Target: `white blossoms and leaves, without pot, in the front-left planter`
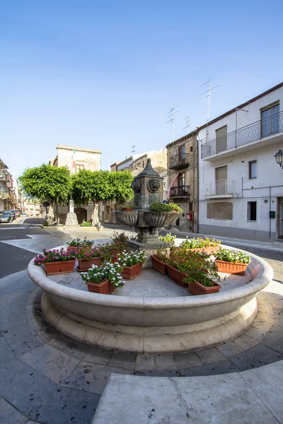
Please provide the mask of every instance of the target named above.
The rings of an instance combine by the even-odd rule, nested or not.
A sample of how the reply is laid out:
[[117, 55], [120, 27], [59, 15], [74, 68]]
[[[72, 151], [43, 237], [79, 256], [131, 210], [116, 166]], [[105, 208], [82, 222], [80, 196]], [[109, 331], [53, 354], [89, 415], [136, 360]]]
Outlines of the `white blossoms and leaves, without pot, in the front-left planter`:
[[115, 288], [122, 287], [125, 283], [122, 281], [121, 272], [123, 267], [118, 263], [112, 264], [106, 262], [103, 266], [92, 265], [87, 272], [81, 273], [81, 278], [86, 283], [101, 284], [103, 281], [110, 280], [110, 283]]

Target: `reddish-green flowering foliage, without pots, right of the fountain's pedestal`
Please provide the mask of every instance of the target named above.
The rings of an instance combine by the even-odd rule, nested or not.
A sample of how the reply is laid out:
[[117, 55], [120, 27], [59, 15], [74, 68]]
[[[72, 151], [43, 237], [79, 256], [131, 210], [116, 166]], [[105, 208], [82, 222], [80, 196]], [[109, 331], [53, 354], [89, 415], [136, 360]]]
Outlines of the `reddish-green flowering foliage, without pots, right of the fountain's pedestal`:
[[186, 249], [175, 247], [171, 251], [167, 264], [185, 273], [184, 282], [197, 281], [205, 287], [212, 287], [215, 281], [220, 281], [215, 261], [209, 259], [209, 254], [187, 252]]

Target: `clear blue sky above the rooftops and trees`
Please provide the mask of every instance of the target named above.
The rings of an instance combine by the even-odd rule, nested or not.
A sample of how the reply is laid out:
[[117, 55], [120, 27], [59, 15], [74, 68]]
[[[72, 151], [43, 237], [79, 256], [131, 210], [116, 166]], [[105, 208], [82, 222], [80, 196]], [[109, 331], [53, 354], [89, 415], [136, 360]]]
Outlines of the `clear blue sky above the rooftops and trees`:
[[[282, 0], [2, 0], [0, 157], [16, 177], [57, 144], [102, 151], [102, 168], [283, 81]], [[135, 141], [134, 141], [135, 138]]]

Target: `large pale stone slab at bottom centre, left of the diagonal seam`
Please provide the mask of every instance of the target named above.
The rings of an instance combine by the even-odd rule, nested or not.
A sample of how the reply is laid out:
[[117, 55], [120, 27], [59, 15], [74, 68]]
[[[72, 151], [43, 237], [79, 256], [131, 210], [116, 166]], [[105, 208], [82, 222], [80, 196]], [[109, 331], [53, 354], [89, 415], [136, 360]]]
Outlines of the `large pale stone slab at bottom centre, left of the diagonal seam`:
[[[125, 408], [126, 405], [129, 405]], [[134, 421], [133, 421], [134, 419]], [[209, 377], [112, 375], [93, 424], [278, 424], [238, 373]]]

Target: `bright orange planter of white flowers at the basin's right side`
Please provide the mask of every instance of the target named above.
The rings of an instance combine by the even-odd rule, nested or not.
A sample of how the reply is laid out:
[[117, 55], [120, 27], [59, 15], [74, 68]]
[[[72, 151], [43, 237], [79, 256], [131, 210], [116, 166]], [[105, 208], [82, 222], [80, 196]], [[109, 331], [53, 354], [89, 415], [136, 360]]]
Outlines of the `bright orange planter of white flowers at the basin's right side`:
[[243, 276], [250, 264], [250, 255], [241, 251], [232, 252], [230, 249], [219, 249], [215, 254], [219, 272], [233, 273]]

